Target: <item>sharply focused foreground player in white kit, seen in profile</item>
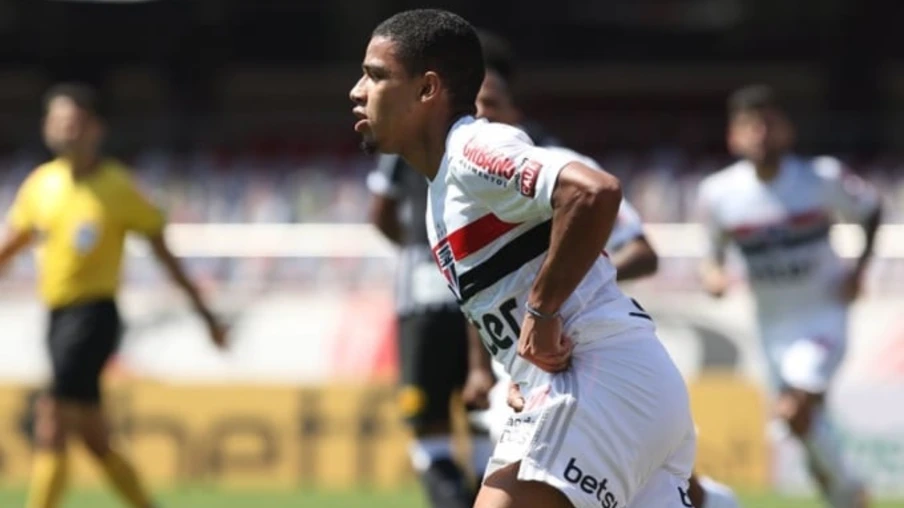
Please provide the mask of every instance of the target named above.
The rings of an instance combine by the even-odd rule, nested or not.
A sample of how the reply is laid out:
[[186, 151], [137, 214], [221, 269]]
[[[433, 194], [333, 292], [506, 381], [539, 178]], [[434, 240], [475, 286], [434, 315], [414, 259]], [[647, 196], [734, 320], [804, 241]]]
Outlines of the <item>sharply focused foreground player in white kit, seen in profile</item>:
[[398, 153], [430, 180], [435, 260], [527, 398], [475, 506], [689, 506], [696, 437], [684, 380], [601, 255], [618, 180], [474, 118], [484, 62], [457, 15], [389, 18], [363, 71], [350, 92], [355, 130], [365, 149]]

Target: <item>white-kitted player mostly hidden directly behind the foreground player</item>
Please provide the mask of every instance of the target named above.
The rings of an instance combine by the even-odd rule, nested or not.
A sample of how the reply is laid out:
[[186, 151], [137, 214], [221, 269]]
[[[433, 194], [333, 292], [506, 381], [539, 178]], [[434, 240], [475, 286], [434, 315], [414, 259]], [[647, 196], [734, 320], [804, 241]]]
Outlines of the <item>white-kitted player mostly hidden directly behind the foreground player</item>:
[[[518, 125], [523, 115], [515, 105], [515, 97], [510, 86], [511, 81], [507, 79], [514, 72], [511, 53], [505, 51], [504, 41], [498, 36], [484, 34], [482, 43], [487, 71], [483, 86], [477, 94], [477, 116], [491, 122]], [[530, 130], [525, 131], [531, 134]], [[567, 148], [554, 146], [555, 142], [537, 142], [537, 144], [546, 145], [551, 150], [562, 151], [581, 160], [589, 167], [602, 170], [593, 159]], [[644, 235], [640, 215], [625, 199], [622, 200], [618, 218], [606, 243], [606, 252], [616, 268], [616, 279], [619, 281], [647, 277], [653, 275], [658, 268], [658, 256]], [[472, 356], [485, 357], [472, 360], [472, 364], [486, 365], [490, 363], [489, 354], [482, 344], [472, 344], [471, 347]], [[475, 417], [483, 420], [484, 425], [490, 429], [491, 437], [496, 441], [502, 431], [505, 419], [511, 414], [508, 404], [509, 396], [511, 395], [513, 403], [519, 410], [520, 407], [517, 405], [521, 404], [519, 401], [521, 397], [517, 385], [510, 386], [508, 376], [505, 375], [502, 366], [498, 362], [493, 362], [492, 368], [498, 382], [492, 387], [491, 392], [488, 394], [484, 391], [484, 385], [475, 383], [466, 387], [464, 398], [466, 402], [478, 407], [490, 406], [488, 412], [477, 414]], [[691, 502], [700, 508], [735, 508], [738, 506], [731, 489], [709, 477], [692, 476], [688, 490]]]

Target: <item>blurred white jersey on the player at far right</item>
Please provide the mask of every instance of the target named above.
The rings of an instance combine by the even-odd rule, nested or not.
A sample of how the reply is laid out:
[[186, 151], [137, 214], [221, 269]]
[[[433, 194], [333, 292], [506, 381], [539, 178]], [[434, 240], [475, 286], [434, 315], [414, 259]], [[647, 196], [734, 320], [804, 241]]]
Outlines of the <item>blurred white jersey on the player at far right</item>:
[[831, 157], [786, 157], [769, 182], [740, 161], [707, 177], [699, 198], [712, 255], [737, 245], [761, 321], [837, 305], [844, 264], [829, 242], [831, 225], [861, 222], [879, 204], [871, 186]]

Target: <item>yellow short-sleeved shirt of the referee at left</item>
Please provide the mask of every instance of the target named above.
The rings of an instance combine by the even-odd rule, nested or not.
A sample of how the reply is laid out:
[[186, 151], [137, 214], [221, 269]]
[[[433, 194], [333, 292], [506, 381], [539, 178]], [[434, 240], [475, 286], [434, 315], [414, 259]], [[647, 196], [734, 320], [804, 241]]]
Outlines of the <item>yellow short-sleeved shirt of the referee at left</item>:
[[69, 163], [56, 159], [22, 184], [9, 224], [35, 234], [40, 295], [58, 308], [113, 297], [126, 232], [158, 235], [164, 218], [119, 162], [105, 160], [94, 173], [75, 179]]

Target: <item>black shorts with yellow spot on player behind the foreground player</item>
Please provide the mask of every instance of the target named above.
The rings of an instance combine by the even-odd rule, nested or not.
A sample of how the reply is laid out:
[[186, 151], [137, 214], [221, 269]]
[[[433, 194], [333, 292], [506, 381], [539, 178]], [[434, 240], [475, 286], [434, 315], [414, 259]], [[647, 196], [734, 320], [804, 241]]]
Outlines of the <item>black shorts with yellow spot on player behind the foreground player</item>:
[[399, 318], [398, 402], [415, 429], [448, 422], [452, 394], [468, 376], [467, 320], [458, 310]]

